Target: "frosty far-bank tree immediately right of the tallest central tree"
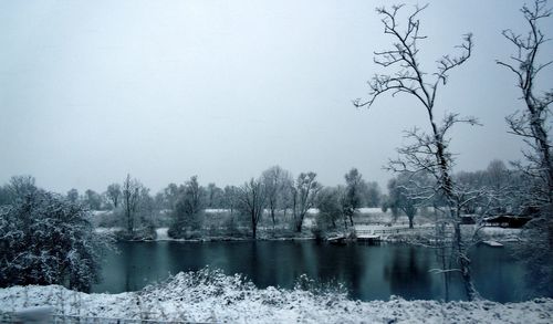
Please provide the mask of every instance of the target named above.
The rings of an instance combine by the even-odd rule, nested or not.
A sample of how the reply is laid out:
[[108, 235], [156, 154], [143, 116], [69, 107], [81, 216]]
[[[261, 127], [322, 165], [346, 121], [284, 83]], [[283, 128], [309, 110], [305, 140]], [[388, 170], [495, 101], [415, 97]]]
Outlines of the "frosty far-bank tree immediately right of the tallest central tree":
[[292, 187], [292, 213], [296, 232], [302, 231], [305, 215], [315, 206], [316, 196], [323, 188], [315, 178], [315, 173], [302, 173]]

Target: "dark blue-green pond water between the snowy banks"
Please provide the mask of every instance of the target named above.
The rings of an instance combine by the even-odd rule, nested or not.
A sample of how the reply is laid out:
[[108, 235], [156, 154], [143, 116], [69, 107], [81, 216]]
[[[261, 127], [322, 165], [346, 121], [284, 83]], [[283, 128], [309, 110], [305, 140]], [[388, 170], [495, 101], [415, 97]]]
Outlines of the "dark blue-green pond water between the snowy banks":
[[[352, 299], [446, 300], [436, 250], [404, 244], [351, 244], [337, 247], [314, 241], [243, 242], [123, 242], [119, 253], [109, 253], [103, 268], [104, 281], [94, 292], [136, 291], [167, 279], [169, 273], [194, 271], [209, 265], [225, 273], [242, 273], [258, 288], [293, 288], [305, 273], [319, 282], [341, 282]], [[509, 249], [478, 247], [472, 252], [472, 271], [483, 297], [511, 302], [528, 300], [530, 291], [523, 268]], [[463, 300], [458, 274], [452, 273], [449, 299]]]

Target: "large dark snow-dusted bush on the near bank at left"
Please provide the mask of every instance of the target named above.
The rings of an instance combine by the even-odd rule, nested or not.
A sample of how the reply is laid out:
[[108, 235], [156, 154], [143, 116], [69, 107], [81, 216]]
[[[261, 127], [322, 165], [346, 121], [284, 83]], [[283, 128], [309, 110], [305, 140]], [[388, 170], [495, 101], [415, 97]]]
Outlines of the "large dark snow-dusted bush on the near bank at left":
[[109, 242], [80, 203], [40, 189], [22, 195], [0, 210], [0, 286], [58, 283], [87, 291]]

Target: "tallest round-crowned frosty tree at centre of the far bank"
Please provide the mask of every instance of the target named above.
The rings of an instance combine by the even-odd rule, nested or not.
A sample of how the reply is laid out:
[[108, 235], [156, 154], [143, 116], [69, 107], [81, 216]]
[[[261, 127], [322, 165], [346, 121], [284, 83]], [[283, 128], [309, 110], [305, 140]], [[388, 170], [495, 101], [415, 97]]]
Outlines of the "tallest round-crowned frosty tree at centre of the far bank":
[[286, 187], [290, 187], [290, 184], [292, 184], [292, 176], [280, 166], [273, 166], [263, 171], [261, 179], [265, 188], [267, 205], [271, 213], [274, 231], [274, 226], [276, 223], [274, 215], [279, 206], [283, 205], [284, 190]]

